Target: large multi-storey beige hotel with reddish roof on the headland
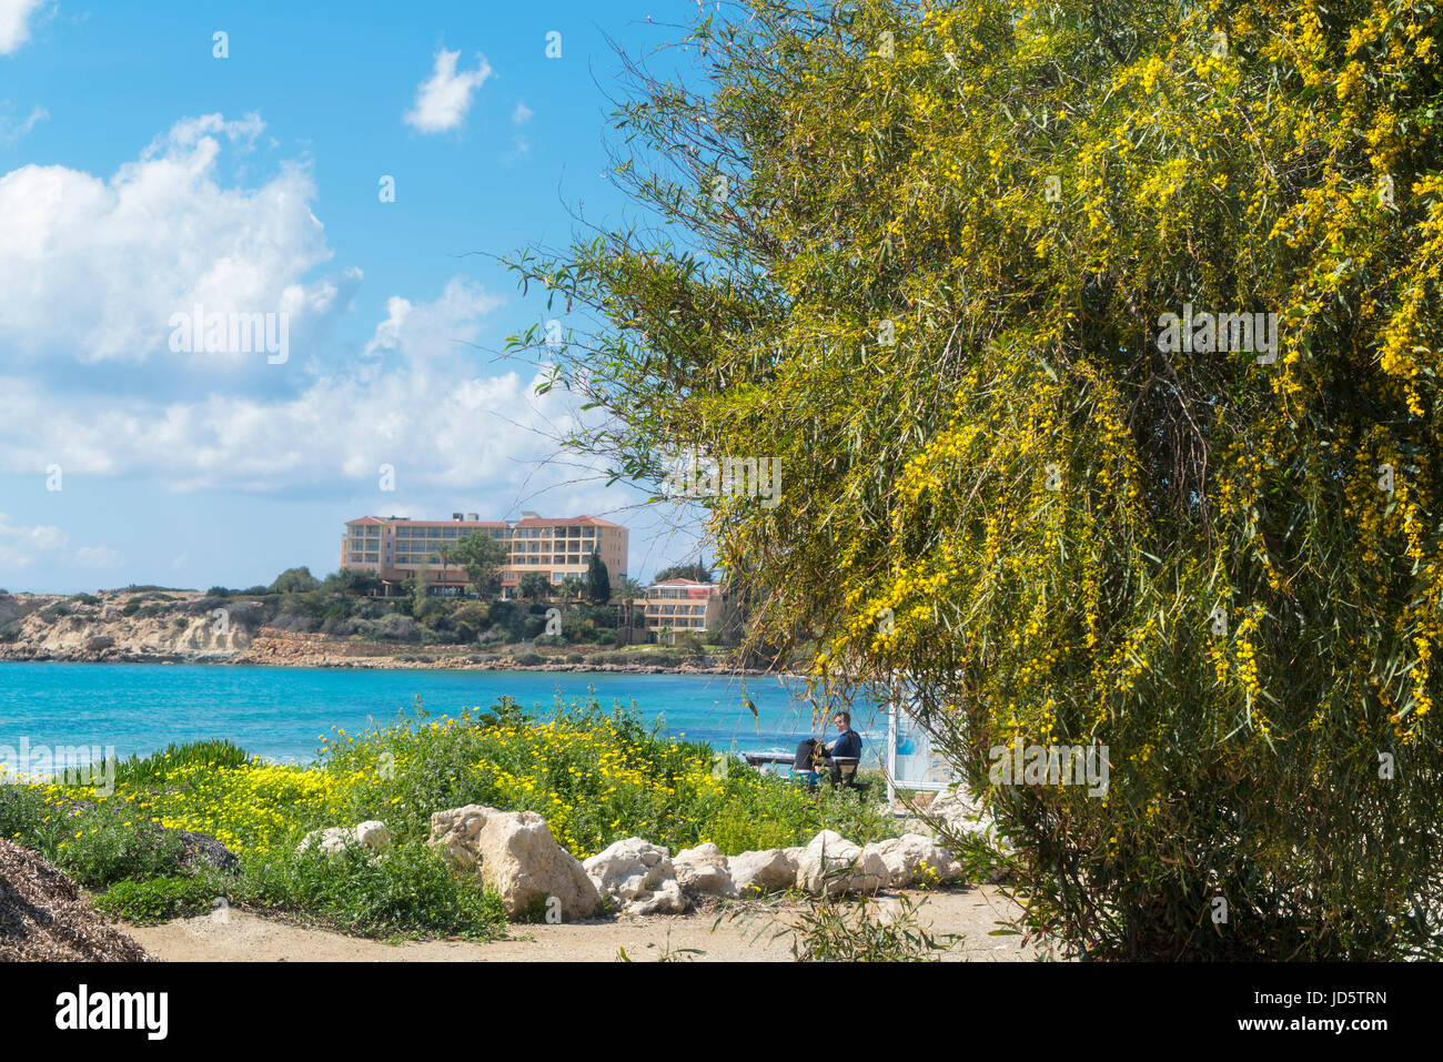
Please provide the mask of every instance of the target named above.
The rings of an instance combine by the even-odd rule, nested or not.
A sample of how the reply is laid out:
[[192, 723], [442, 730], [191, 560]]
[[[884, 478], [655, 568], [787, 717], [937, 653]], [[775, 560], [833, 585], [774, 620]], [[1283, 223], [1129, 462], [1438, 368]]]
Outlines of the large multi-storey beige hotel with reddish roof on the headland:
[[506, 547], [499, 569], [502, 590], [514, 590], [528, 571], [540, 573], [553, 586], [567, 576], [586, 579], [593, 550], [606, 564], [612, 586], [626, 579], [625, 527], [596, 517], [548, 519], [535, 512], [522, 512], [517, 521], [479, 519], [475, 512], [456, 512], [450, 519], [361, 517], [346, 521], [341, 567], [374, 571], [388, 587], [424, 567], [431, 586], [465, 592], [466, 569], [456, 561], [442, 564], [439, 547], [472, 534], [491, 535]]

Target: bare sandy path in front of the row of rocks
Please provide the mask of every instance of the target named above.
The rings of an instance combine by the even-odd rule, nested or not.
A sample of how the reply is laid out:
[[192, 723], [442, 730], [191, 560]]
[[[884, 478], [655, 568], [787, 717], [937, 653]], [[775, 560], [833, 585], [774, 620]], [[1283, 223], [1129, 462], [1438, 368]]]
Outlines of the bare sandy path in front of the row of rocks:
[[[931, 893], [908, 892], [922, 900], [918, 921], [937, 934], [964, 934], [948, 952], [957, 961], [1029, 961], [1039, 957], [1019, 936], [988, 936], [1016, 915], [1016, 905], [993, 886], [947, 889]], [[883, 899], [883, 905], [890, 900]], [[662, 955], [693, 961], [788, 961], [791, 936], [773, 938], [776, 919], [785, 909], [769, 912], [746, 905], [750, 919], [723, 922], [713, 931], [716, 913], [655, 918], [618, 918], [573, 925], [514, 926], [517, 939], [473, 944], [469, 941], [421, 941], [382, 944], [322, 929], [228, 912], [228, 922], [214, 916], [167, 922], [160, 926], [121, 928], [150, 954], [162, 960], [221, 962], [612, 962], [625, 948], [638, 962]], [[696, 951], [687, 951], [696, 949]]]

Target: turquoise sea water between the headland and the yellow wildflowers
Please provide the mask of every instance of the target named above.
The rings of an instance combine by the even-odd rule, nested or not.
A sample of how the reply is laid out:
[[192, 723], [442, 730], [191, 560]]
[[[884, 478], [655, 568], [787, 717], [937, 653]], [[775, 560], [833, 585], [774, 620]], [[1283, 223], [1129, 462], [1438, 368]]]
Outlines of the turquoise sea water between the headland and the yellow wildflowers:
[[[717, 749], [791, 750], [812, 733], [799, 684], [789, 688], [778, 678], [746, 680], [760, 716], [758, 732], [742, 703], [742, 680], [723, 675], [0, 664], [0, 758], [22, 739], [32, 749], [114, 746], [126, 758], [170, 742], [227, 737], [260, 756], [304, 762], [332, 727], [356, 733], [387, 723], [410, 713], [417, 697], [433, 716], [489, 707], [502, 694], [547, 710], [557, 691], [584, 697], [589, 687], [603, 707], [635, 701], [644, 719]], [[859, 706], [853, 727], [866, 743], [866, 760], [877, 760], [886, 716]]]

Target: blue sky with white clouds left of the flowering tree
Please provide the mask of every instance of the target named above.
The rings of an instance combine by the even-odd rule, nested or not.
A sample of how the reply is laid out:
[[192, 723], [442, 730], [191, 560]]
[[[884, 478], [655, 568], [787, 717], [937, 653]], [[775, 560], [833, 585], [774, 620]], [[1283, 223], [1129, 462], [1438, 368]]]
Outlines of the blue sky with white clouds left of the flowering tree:
[[[633, 577], [694, 558], [696, 514], [556, 459], [576, 411], [496, 356], [548, 315], [473, 254], [633, 212], [605, 38], [694, 13], [0, 0], [0, 587], [323, 574], [392, 512], [590, 512]], [[284, 352], [176, 349], [196, 304], [284, 317]]]

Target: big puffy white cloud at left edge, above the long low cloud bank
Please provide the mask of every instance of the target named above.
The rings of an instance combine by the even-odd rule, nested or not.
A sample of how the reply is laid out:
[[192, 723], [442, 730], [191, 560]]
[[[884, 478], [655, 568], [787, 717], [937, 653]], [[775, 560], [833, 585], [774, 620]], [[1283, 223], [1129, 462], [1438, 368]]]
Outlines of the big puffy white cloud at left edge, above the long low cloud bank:
[[0, 333], [10, 356], [84, 362], [169, 356], [169, 319], [289, 309], [291, 335], [325, 313], [303, 276], [332, 257], [304, 166], [255, 189], [224, 186], [222, 153], [254, 149], [258, 115], [177, 121], [102, 179], [63, 166], [0, 176]]

